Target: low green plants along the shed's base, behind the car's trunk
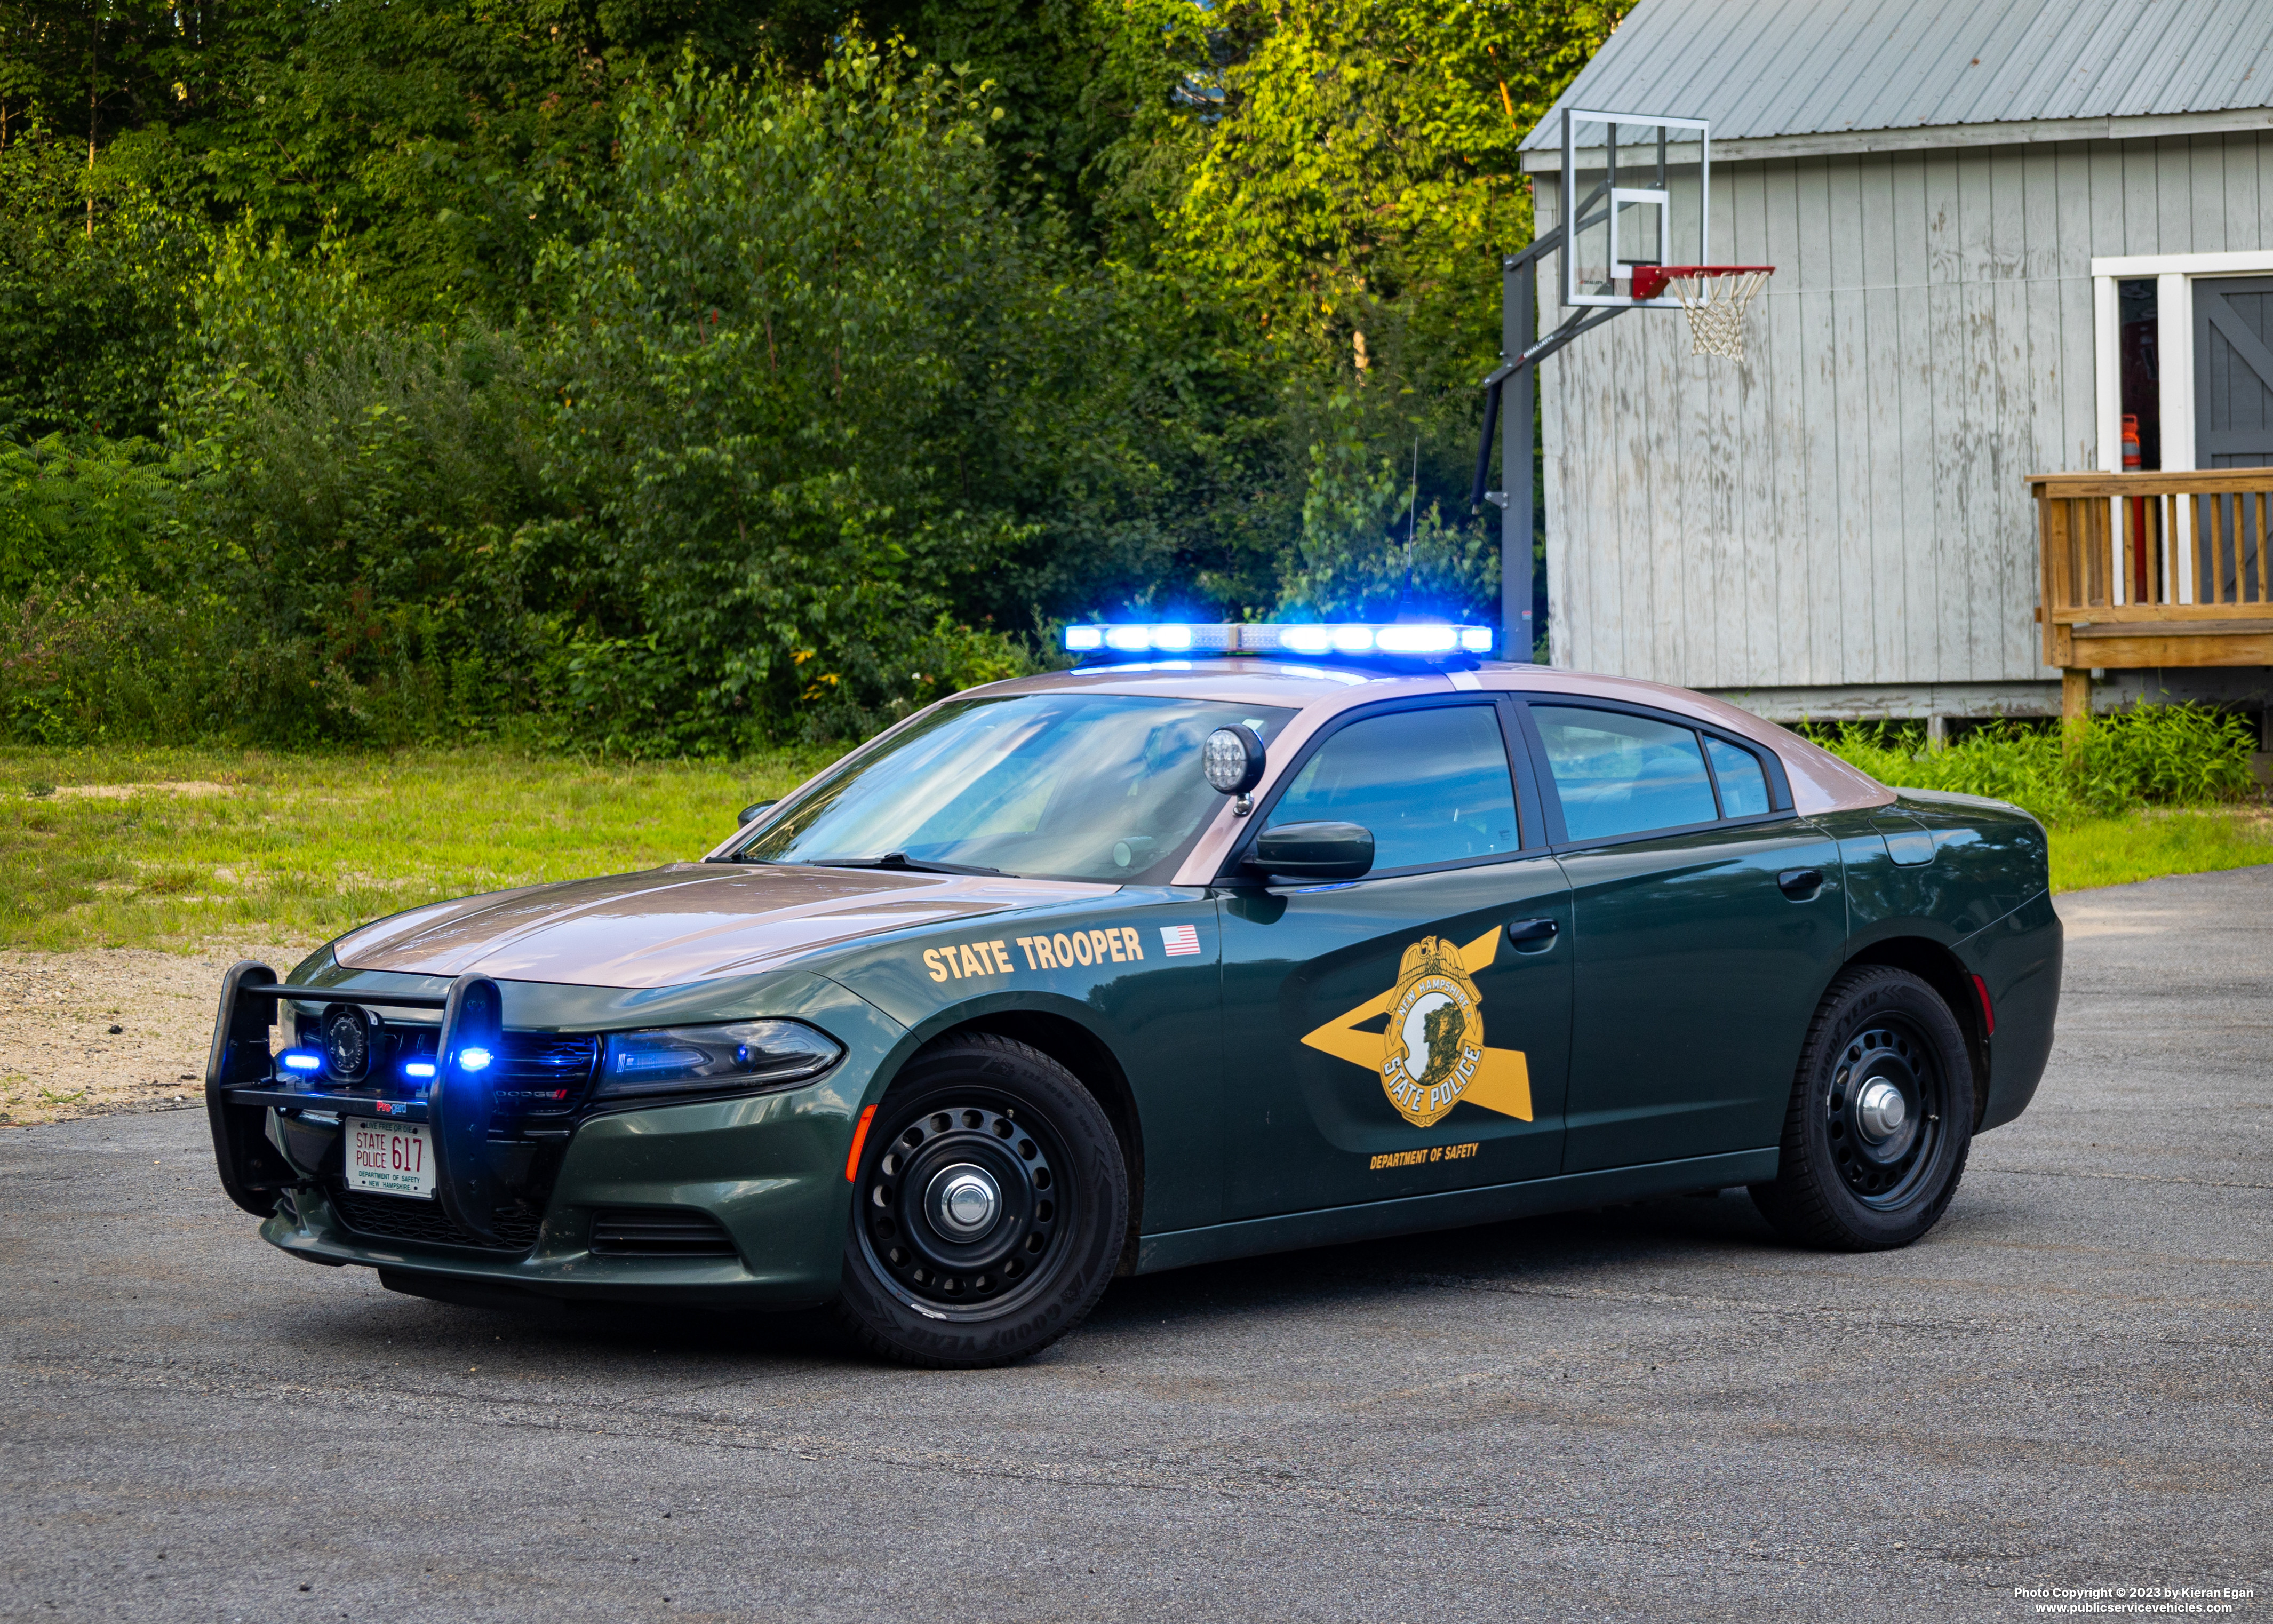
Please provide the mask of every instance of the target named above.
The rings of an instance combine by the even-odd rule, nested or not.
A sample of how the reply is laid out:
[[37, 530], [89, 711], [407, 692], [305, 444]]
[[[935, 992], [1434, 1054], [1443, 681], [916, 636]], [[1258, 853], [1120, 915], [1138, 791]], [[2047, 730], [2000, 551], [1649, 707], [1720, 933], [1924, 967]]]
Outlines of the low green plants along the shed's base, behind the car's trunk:
[[2080, 723], [1996, 721], [1925, 748], [1916, 723], [1843, 723], [1812, 730], [1827, 751], [1882, 785], [1993, 796], [2046, 823], [2112, 817], [2148, 805], [2214, 805], [2257, 789], [2255, 730], [2203, 705], [2134, 705]]

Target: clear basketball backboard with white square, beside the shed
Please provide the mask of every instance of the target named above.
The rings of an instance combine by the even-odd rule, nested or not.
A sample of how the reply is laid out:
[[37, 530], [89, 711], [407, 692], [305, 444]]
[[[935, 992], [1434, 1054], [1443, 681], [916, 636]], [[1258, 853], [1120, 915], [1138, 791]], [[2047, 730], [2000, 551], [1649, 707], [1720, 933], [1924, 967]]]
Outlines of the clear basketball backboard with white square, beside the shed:
[[1712, 255], [1712, 130], [1705, 118], [1564, 109], [1564, 305], [1680, 309], [1634, 298], [1634, 266], [1696, 266]]

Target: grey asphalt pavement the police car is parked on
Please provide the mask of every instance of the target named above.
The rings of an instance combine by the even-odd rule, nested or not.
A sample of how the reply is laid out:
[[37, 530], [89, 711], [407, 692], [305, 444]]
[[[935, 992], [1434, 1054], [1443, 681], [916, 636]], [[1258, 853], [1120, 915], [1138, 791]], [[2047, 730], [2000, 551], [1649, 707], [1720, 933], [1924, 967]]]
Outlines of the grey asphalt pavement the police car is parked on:
[[0, 1130], [0, 1617], [2268, 1613], [2273, 869], [2059, 910], [2043, 1089], [1907, 1251], [1652, 1201], [1123, 1281], [977, 1374], [382, 1292], [202, 1112]]

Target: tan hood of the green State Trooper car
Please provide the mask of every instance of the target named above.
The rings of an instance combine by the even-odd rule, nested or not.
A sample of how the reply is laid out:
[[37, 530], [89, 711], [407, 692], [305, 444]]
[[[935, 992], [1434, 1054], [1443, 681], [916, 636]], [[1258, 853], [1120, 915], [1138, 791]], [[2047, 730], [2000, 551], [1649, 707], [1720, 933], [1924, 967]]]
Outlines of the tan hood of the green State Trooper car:
[[677, 987], [777, 969], [882, 930], [1116, 889], [1007, 876], [675, 862], [414, 908], [343, 935], [332, 951], [345, 969]]

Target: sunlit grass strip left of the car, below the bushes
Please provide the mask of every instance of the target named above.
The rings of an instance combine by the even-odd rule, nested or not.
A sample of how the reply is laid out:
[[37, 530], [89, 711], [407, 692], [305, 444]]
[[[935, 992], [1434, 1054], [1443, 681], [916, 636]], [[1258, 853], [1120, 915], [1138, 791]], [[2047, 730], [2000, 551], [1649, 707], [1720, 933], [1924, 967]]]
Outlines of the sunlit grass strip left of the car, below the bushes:
[[700, 857], [830, 755], [5, 748], [0, 946], [320, 942], [443, 896]]

